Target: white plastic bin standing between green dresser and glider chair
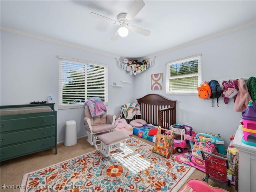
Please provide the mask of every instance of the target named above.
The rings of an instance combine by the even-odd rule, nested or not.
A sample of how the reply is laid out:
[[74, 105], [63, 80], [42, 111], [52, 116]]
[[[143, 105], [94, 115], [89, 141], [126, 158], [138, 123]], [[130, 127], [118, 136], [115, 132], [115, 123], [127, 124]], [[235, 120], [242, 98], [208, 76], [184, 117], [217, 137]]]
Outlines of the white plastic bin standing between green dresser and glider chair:
[[65, 130], [65, 146], [75, 145], [77, 143], [76, 136], [76, 122], [74, 120], [66, 121], [66, 130]]

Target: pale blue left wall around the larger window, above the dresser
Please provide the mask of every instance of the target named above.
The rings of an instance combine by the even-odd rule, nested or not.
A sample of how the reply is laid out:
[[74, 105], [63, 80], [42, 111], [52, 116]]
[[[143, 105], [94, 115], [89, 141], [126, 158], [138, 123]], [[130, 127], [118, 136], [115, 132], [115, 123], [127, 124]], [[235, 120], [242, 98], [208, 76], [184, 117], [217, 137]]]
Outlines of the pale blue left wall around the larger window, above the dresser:
[[[58, 110], [58, 56], [108, 65], [109, 114], [119, 116], [119, 106], [134, 101], [134, 94], [130, 91], [134, 76], [117, 67], [114, 58], [1, 31], [0, 104], [29, 104], [46, 101], [51, 95], [57, 110], [58, 142], [64, 141], [67, 120], [76, 121], [78, 137], [86, 135], [83, 108]], [[123, 84], [124, 87], [111, 86], [120, 80], [132, 83]]]

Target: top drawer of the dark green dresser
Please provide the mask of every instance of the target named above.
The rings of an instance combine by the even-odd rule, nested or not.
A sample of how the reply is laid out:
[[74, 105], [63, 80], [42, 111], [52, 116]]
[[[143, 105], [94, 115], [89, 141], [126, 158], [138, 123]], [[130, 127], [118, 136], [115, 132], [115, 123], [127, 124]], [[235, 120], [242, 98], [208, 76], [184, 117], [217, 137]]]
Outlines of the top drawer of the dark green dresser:
[[6, 131], [22, 130], [27, 128], [48, 126], [54, 124], [54, 115], [1, 120], [1, 133]]

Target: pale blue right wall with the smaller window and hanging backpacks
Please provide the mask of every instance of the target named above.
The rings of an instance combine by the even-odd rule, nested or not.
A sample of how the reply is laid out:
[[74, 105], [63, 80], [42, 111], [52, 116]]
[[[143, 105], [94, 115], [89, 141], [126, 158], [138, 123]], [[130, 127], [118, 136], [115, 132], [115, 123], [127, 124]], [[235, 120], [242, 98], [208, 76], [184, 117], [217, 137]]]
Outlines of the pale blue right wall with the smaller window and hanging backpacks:
[[[224, 138], [225, 147], [230, 143], [230, 135], [235, 134], [241, 113], [234, 111], [234, 101], [224, 104], [219, 100], [214, 107], [211, 100], [199, 99], [197, 95], [166, 95], [165, 82], [163, 90], [150, 89], [150, 75], [163, 73], [165, 81], [165, 63], [202, 54], [202, 80], [228, 80], [230, 78], [249, 78], [256, 76], [256, 28], [255, 26], [214, 38], [186, 48], [175, 50], [156, 57], [156, 64], [146, 72], [136, 76], [135, 97], [156, 93], [169, 99], [177, 100], [176, 121], [189, 124], [197, 133], [212, 132]], [[142, 84], [143, 82], [143, 84]]]

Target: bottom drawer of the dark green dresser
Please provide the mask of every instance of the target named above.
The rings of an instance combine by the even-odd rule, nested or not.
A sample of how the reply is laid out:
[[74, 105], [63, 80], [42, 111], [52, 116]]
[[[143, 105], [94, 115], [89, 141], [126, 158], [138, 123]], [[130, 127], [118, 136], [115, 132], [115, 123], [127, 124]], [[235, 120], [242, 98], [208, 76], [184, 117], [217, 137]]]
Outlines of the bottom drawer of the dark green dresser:
[[1, 161], [55, 147], [55, 137], [1, 147]]

